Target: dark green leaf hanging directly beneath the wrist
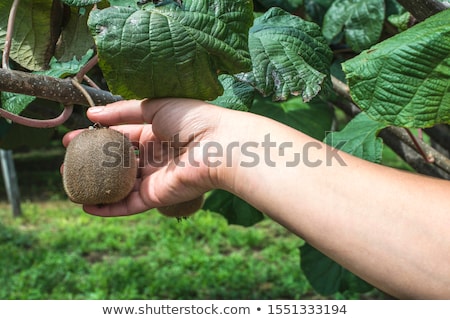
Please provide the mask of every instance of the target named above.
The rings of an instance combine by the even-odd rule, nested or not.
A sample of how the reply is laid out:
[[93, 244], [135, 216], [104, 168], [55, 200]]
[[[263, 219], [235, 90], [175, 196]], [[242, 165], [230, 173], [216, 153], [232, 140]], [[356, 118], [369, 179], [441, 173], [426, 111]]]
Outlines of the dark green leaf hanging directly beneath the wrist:
[[206, 198], [203, 209], [220, 213], [229, 224], [244, 227], [252, 226], [264, 219], [259, 210], [224, 190], [213, 190]]

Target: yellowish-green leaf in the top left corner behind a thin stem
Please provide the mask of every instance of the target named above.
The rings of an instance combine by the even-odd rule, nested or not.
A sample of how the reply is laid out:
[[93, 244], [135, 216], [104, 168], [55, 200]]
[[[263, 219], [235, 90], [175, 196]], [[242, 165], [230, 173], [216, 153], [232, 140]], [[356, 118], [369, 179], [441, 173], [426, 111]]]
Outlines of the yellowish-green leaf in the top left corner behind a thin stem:
[[[13, 0], [0, 2], [0, 49], [3, 50]], [[61, 11], [58, 11], [61, 10]], [[48, 67], [61, 28], [62, 8], [48, 0], [20, 2], [14, 23], [10, 57], [29, 70]]]

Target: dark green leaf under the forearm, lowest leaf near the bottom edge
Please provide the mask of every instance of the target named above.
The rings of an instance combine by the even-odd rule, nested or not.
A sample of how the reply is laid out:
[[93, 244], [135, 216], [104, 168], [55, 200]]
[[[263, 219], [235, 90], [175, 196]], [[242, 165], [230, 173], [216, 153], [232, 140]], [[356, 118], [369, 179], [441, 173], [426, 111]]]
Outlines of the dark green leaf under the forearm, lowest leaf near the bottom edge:
[[373, 286], [305, 243], [300, 248], [301, 268], [315, 291], [322, 295], [350, 290], [367, 292]]

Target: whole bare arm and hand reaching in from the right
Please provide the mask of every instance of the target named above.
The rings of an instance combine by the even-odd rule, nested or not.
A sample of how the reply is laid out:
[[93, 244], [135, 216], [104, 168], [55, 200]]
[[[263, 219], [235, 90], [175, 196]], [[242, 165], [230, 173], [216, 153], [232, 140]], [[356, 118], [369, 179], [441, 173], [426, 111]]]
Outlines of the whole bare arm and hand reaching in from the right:
[[[114, 128], [142, 143], [178, 135], [184, 152], [152, 152], [164, 165], [145, 166], [124, 201], [87, 212], [133, 214], [224, 189], [381, 290], [450, 297], [448, 181], [372, 164], [271, 119], [200, 101], [124, 101], [101, 110], [88, 116], [138, 124]], [[214, 146], [223, 152], [211, 152]]]

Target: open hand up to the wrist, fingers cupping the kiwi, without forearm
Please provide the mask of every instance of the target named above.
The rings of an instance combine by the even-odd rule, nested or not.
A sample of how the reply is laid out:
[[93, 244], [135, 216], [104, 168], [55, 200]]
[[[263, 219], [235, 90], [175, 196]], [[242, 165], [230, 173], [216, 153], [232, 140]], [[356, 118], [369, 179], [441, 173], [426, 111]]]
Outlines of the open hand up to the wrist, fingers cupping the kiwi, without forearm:
[[[139, 150], [139, 170], [133, 191], [106, 206], [84, 206], [99, 216], [122, 216], [194, 199], [215, 187], [214, 171], [200, 145], [217, 141], [225, 109], [190, 99], [120, 101], [90, 108], [93, 122], [124, 133]], [[78, 131], [63, 138], [67, 146]]]

